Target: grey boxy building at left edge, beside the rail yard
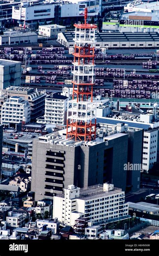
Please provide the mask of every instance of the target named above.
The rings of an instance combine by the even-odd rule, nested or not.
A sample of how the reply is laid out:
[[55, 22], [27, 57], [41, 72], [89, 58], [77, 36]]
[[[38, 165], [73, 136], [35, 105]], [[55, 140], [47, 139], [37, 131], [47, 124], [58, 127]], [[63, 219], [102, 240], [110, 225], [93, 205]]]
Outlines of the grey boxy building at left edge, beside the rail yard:
[[8, 86], [19, 86], [21, 62], [0, 59], [0, 90]]

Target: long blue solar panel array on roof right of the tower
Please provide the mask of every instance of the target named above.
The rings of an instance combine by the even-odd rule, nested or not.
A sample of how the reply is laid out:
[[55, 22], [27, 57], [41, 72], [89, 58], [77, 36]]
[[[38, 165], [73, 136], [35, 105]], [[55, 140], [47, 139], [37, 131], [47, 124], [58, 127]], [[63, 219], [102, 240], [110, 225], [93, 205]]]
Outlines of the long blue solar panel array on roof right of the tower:
[[[95, 122], [95, 119], [92, 119], [92, 123]], [[112, 125], [116, 125], [118, 123], [124, 123], [124, 124], [128, 124], [128, 127], [133, 127], [133, 128], [140, 128], [140, 129], [144, 129], [144, 130], [148, 130], [149, 128], [151, 128], [150, 125], [148, 124], [140, 124], [140, 123], [131, 123], [131, 122], [127, 122], [127, 121], [121, 121], [121, 120], [113, 120], [113, 119], [108, 119], [108, 118], [97, 118], [97, 123], [101, 123], [101, 124], [112, 124]]]

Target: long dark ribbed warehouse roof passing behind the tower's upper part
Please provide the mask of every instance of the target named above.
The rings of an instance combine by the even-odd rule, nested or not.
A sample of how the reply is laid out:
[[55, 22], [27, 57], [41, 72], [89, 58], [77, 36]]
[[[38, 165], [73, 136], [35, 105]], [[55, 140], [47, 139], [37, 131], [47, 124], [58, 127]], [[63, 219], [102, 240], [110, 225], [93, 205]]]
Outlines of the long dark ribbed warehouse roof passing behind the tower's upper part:
[[[65, 32], [62, 33], [67, 41], [73, 41], [75, 37], [74, 32]], [[159, 41], [159, 33], [158, 32], [113, 32], [113, 33], [96, 33], [96, 41]]]

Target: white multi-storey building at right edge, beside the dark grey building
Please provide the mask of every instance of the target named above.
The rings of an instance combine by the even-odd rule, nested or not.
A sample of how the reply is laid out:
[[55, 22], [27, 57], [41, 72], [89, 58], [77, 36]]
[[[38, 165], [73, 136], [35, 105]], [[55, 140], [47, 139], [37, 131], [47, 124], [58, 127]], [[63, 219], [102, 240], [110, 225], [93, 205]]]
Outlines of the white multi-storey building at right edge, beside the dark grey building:
[[143, 170], [148, 171], [157, 161], [158, 129], [144, 131], [143, 140]]

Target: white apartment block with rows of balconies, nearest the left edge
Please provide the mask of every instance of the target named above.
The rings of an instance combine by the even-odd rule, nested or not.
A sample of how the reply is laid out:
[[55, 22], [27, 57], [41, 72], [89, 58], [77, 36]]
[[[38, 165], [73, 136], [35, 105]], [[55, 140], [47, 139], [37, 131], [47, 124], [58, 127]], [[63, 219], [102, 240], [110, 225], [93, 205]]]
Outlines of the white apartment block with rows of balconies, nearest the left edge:
[[28, 100], [18, 96], [10, 97], [3, 103], [1, 124], [13, 127], [22, 120], [25, 120], [26, 123], [31, 120], [31, 107]]

